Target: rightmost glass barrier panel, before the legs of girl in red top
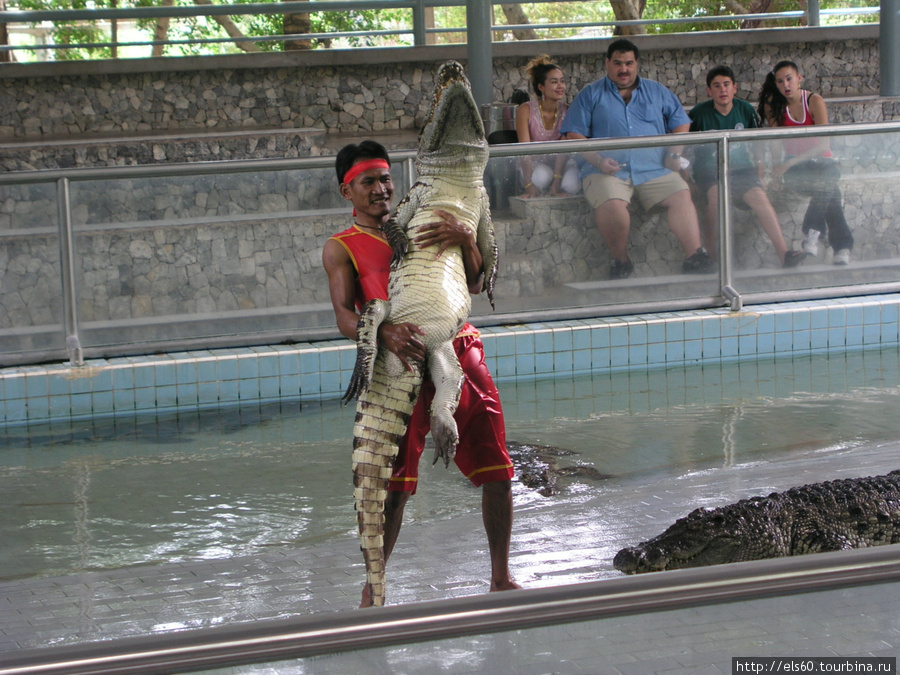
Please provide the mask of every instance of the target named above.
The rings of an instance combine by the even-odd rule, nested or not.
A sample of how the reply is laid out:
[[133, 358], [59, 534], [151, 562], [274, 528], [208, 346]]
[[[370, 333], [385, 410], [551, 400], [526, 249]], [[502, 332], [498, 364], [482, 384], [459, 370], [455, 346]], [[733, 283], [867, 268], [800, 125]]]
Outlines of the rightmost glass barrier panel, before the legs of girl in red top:
[[[738, 292], [896, 281], [898, 153], [900, 131], [732, 143]], [[761, 183], [750, 162], [762, 165]]]

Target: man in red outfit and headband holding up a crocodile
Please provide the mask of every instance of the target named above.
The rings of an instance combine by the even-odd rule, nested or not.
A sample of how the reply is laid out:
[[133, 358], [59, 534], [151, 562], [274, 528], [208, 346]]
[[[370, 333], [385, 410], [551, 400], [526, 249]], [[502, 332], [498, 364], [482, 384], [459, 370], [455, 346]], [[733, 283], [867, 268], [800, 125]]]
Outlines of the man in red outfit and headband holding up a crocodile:
[[[390, 159], [383, 146], [374, 141], [350, 144], [338, 153], [335, 168], [341, 195], [354, 207], [356, 221], [325, 244], [322, 262], [335, 318], [341, 334], [356, 339], [359, 311], [372, 298], [387, 299], [392, 250], [384, 239], [382, 226], [391, 213], [394, 187]], [[435, 211], [435, 222], [417, 237], [423, 245], [441, 250], [460, 246], [470, 292], [477, 294], [483, 284], [483, 261], [474, 234], [452, 215]], [[419, 339], [422, 329], [412, 323], [382, 324], [378, 342], [411, 369], [411, 362], [425, 357]], [[509, 544], [512, 531], [512, 462], [506, 451], [505, 428], [500, 398], [487, 366], [478, 331], [466, 323], [453, 342], [465, 373], [455, 419], [460, 441], [454, 461], [476, 486], [482, 486], [482, 514], [491, 558], [491, 591], [519, 588], [509, 571]], [[397, 541], [403, 510], [417, 487], [418, 463], [429, 431], [428, 408], [434, 387], [426, 382], [416, 403], [400, 452], [394, 464], [384, 504], [384, 556]], [[368, 586], [361, 606], [371, 604]]]

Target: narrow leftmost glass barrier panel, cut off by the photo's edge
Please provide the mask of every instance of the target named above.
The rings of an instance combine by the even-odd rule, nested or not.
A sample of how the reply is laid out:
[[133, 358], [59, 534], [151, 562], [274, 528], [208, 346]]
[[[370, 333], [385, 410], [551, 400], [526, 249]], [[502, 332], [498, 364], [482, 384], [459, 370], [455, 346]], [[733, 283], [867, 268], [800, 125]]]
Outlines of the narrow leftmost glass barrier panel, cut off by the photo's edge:
[[0, 185], [0, 354], [65, 350], [55, 183]]

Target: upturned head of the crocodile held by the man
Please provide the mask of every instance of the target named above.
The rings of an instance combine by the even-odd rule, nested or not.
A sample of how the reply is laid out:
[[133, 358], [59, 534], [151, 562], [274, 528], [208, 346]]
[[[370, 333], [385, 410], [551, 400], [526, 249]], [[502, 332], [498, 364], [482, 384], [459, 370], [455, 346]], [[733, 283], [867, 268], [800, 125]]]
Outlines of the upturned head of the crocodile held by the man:
[[441, 66], [431, 112], [419, 134], [416, 171], [463, 180], [481, 179], [488, 146], [478, 105], [463, 67], [456, 61]]

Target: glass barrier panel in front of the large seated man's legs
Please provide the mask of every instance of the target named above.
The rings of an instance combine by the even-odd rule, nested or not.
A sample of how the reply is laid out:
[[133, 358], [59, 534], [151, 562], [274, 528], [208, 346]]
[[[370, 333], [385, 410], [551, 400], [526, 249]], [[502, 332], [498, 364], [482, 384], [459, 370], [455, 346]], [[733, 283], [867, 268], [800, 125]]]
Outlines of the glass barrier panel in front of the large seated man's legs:
[[[703, 242], [689, 185], [663, 167], [667, 153], [662, 147], [604, 153], [620, 162], [615, 177], [588, 163], [596, 153], [573, 152], [559, 162], [493, 157], [485, 186], [500, 248], [496, 311], [717, 296], [716, 265], [697, 255]], [[638, 185], [632, 190], [629, 181]], [[483, 299], [475, 314], [490, 316]]]

